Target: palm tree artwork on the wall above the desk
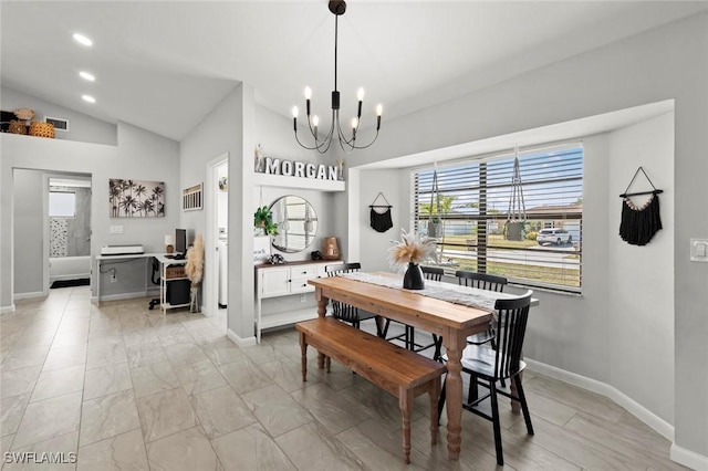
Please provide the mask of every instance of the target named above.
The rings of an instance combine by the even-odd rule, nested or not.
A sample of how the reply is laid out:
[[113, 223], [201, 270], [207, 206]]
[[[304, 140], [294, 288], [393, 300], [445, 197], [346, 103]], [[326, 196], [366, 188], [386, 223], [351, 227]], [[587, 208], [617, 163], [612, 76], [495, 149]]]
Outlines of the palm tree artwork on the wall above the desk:
[[108, 179], [111, 218], [162, 218], [165, 216], [165, 182]]

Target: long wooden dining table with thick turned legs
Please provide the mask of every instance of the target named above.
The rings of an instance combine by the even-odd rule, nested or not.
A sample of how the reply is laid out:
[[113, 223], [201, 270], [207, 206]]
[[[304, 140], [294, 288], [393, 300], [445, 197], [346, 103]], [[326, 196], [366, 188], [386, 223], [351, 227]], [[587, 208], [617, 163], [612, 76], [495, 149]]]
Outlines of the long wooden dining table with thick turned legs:
[[[375, 273], [391, 275], [392, 273]], [[330, 300], [356, 306], [361, 310], [440, 335], [447, 349], [446, 405], [447, 448], [450, 460], [460, 456], [460, 433], [462, 420], [462, 377], [460, 363], [467, 337], [489, 328], [489, 312], [423, 296], [415, 291], [391, 289], [378, 284], [350, 280], [342, 276], [313, 279], [317, 315], [326, 315]], [[470, 289], [473, 290], [473, 289]], [[509, 297], [494, 293], [498, 297]], [[317, 366], [323, 367], [324, 356], [317, 354]]]

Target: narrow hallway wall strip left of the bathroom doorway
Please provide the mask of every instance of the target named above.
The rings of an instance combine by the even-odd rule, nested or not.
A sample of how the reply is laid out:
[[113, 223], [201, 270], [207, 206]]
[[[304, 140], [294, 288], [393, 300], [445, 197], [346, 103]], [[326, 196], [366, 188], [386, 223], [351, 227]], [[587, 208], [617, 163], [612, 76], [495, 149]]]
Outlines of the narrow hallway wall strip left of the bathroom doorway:
[[37, 295], [44, 290], [42, 172], [15, 169], [14, 188], [14, 293]]

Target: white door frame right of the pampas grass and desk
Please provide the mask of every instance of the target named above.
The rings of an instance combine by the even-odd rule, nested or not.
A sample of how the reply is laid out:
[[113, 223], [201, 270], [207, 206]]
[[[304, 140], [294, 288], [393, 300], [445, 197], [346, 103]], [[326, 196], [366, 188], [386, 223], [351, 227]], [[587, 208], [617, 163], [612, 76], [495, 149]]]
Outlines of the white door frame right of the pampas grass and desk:
[[[205, 295], [204, 307], [208, 316], [216, 316], [219, 312], [219, 231], [217, 230], [217, 192], [219, 176], [217, 169], [223, 164], [229, 165], [229, 153], [207, 163], [207, 181], [205, 182], [205, 205], [207, 208], [207, 228], [205, 231]], [[227, 264], [227, 276], [229, 266]]]

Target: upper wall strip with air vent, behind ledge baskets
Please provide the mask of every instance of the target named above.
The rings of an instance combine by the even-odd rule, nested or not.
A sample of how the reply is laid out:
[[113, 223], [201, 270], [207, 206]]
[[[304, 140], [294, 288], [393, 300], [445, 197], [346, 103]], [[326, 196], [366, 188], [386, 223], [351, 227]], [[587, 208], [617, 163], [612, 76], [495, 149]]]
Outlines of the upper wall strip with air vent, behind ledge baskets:
[[115, 124], [93, 118], [35, 96], [3, 86], [0, 87], [0, 104], [2, 109], [7, 111], [17, 108], [33, 109], [35, 115], [32, 121], [44, 121], [44, 116], [69, 119], [69, 130], [54, 132], [55, 139], [106, 144], [110, 146], [117, 144], [117, 126]]

